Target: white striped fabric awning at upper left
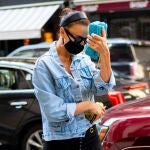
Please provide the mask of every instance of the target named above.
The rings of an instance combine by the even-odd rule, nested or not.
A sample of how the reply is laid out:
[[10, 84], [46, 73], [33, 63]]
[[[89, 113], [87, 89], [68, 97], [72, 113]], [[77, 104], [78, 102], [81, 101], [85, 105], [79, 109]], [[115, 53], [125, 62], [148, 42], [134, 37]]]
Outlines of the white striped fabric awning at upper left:
[[60, 5], [0, 9], [0, 40], [41, 38], [41, 29]]

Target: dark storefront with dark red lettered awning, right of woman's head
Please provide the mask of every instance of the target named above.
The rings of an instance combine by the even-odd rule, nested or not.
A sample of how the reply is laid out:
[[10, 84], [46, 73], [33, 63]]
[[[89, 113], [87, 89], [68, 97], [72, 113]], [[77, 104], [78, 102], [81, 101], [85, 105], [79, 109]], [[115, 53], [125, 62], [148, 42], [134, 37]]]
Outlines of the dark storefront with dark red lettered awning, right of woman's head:
[[107, 22], [108, 37], [150, 40], [150, 0], [75, 0], [75, 6], [91, 21]]

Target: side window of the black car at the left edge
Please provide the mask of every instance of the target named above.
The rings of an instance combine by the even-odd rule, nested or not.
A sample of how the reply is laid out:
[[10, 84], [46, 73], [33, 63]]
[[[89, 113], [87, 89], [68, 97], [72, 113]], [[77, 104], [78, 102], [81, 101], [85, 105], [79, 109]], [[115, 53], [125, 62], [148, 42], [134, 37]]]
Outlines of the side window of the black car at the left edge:
[[0, 68], [0, 90], [32, 89], [32, 75], [22, 70]]

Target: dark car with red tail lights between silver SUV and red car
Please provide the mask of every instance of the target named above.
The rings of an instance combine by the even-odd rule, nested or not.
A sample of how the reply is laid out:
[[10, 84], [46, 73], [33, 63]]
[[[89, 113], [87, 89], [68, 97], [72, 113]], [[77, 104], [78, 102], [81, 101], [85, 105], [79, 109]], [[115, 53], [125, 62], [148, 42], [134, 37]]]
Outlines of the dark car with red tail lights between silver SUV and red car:
[[113, 73], [116, 80], [113, 90], [106, 95], [95, 96], [95, 101], [103, 102], [106, 109], [150, 95], [148, 82], [132, 80], [116, 70]]

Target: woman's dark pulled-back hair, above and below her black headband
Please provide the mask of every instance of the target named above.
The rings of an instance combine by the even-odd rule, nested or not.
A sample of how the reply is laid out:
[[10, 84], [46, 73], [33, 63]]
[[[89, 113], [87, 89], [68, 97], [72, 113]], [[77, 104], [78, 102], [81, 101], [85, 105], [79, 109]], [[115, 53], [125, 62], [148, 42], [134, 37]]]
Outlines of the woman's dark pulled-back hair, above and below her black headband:
[[[72, 10], [71, 8], [65, 8], [62, 10], [61, 12], [61, 16], [60, 16], [60, 24], [61, 22], [63, 21], [63, 19], [68, 16], [68, 15], [71, 15], [71, 14], [75, 14], [75, 13], [84, 13], [84, 12], [80, 12], [80, 11], [75, 11], [75, 10]], [[88, 25], [90, 23], [90, 21], [88, 20], [87, 17], [85, 17], [84, 19], [80, 19], [80, 20], [75, 20], [67, 25], [65, 25], [65, 27], [71, 27], [73, 24], [81, 24], [81, 25]]]

